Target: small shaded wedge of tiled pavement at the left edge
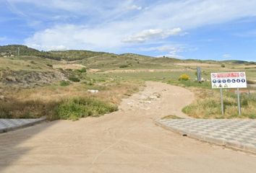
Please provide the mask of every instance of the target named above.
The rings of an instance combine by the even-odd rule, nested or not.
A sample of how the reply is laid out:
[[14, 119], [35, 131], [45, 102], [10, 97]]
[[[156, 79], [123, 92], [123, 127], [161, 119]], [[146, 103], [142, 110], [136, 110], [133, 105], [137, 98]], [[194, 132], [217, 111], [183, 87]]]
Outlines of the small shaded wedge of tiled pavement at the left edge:
[[0, 118], [0, 133], [7, 132], [9, 130], [15, 130], [35, 123], [40, 123], [46, 120], [46, 117], [40, 117], [35, 119], [4, 119]]

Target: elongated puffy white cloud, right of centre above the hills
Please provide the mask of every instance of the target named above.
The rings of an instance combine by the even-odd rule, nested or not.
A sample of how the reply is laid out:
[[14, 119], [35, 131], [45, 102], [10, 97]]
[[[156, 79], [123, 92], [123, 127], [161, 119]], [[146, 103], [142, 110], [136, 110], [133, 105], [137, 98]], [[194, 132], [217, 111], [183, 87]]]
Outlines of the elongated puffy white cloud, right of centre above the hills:
[[139, 32], [135, 35], [131, 35], [129, 37], [124, 38], [123, 42], [142, 43], [150, 39], [158, 39], [158, 38], [163, 39], [171, 35], [178, 35], [181, 31], [182, 30], [179, 27], [171, 30], [161, 30], [161, 29], [142, 30], [142, 32]]

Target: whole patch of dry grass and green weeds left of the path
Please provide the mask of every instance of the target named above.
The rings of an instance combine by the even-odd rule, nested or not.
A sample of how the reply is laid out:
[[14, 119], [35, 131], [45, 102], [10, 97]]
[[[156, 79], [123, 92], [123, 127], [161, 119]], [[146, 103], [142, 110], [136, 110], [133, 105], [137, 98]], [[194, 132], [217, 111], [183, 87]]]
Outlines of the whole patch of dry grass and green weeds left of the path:
[[[4, 100], [0, 100], [0, 117], [25, 118], [47, 116], [48, 120], [67, 118], [76, 120], [88, 115], [102, 115], [114, 111], [121, 99], [137, 92], [141, 84], [128, 82], [102, 82], [93, 85], [73, 83], [69, 86], [37, 87], [34, 89], [5, 89]], [[100, 92], [91, 94], [88, 89], [98, 89]], [[79, 105], [73, 101], [95, 102], [91, 107]], [[75, 103], [75, 104], [74, 104]], [[111, 106], [113, 105], [113, 106]], [[90, 109], [89, 109], [90, 108]], [[61, 112], [66, 112], [64, 117]], [[87, 115], [82, 115], [87, 113]]]

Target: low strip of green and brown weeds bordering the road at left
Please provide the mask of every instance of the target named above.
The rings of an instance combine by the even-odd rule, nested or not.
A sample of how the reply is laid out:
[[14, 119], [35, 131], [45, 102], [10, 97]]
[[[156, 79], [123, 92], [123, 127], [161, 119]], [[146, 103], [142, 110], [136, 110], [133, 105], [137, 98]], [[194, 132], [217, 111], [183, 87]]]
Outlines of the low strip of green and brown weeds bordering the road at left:
[[117, 110], [117, 106], [92, 97], [78, 97], [55, 102], [40, 100], [0, 102], [0, 118], [36, 118], [45, 115], [48, 120], [78, 120], [99, 116]]

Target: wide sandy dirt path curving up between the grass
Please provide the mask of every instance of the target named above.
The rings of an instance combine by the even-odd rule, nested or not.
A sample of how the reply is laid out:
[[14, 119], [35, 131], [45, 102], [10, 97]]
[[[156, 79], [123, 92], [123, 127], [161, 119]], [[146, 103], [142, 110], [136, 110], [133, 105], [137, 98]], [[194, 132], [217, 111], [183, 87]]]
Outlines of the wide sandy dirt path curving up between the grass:
[[118, 112], [54, 121], [0, 135], [0, 172], [256, 172], [256, 157], [179, 136], [153, 120], [193, 94], [148, 82]]

